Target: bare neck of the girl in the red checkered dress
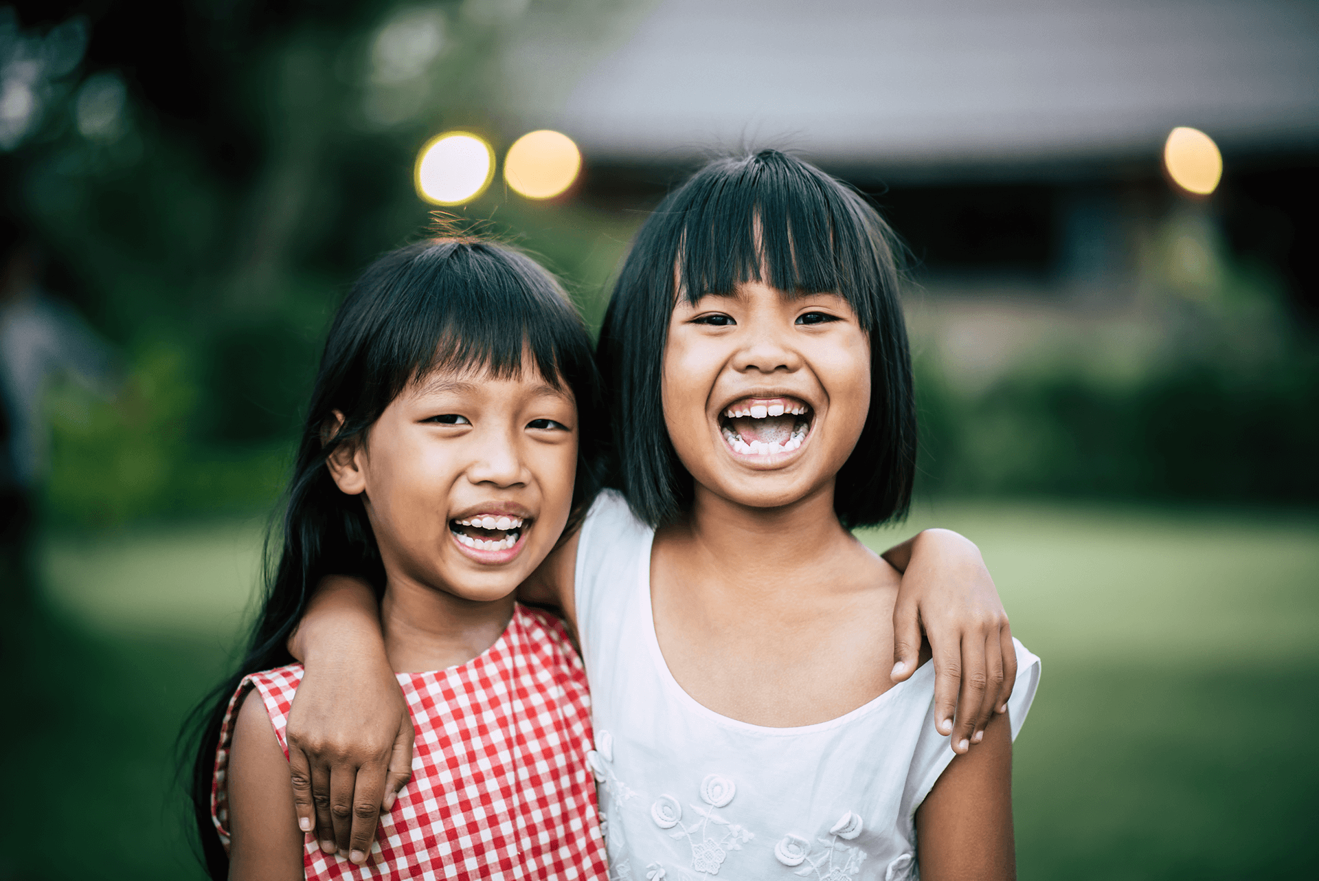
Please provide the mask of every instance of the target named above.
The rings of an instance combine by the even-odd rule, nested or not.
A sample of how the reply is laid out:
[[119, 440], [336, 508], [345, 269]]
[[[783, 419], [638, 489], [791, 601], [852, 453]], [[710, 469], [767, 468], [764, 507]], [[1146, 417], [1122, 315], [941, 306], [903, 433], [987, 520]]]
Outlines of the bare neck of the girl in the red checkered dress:
[[380, 626], [390, 666], [396, 673], [421, 673], [471, 661], [504, 633], [513, 603], [513, 593], [489, 601], [464, 600], [389, 572]]

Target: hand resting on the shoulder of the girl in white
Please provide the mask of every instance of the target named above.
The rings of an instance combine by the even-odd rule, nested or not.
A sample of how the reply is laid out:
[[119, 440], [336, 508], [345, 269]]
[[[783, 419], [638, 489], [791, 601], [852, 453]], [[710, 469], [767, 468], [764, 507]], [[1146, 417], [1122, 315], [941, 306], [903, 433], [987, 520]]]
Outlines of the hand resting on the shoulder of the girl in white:
[[985, 736], [995, 711], [1008, 711], [1017, 681], [998, 591], [980, 549], [948, 529], [917, 533], [884, 559], [902, 572], [893, 607], [893, 681], [915, 673], [923, 630], [934, 655], [938, 728], [951, 735], [954, 752], [966, 753]]

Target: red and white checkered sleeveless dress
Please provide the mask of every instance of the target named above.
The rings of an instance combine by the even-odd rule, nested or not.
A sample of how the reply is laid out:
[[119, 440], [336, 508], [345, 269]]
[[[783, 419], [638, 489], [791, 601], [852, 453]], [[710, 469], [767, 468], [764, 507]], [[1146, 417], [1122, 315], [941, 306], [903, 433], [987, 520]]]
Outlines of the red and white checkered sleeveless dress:
[[[211, 816], [228, 847], [224, 774], [239, 696], [256, 688], [284, 754], [302, 665], [243, 681], [220, 731]], [[413, 775], [380, 818], [367, 864], [324, 855], [309, 835], [310, 878], [604, 878], [604, 841], [582, 661], [553, 616], [518, 605], [480, 657], [401, 673], [417, 740]]]

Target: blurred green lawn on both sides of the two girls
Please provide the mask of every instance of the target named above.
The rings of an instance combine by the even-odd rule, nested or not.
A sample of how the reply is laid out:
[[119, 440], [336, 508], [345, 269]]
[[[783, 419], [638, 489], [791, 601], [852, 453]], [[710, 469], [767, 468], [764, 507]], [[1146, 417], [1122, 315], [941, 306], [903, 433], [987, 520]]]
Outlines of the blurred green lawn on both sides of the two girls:
[[[933, 524], [981, 546], [1043, 658], [1016, 750], [1022, 878], [1312, 865], [1319, 518], [940, 502], [863, 538]], [[228, 663], [259, 551], [255, 521], [45, 543], [49, 612], [13, 636], [36, 674], [4, 727], [0, 878], [200, 877], [170, 750]]]

